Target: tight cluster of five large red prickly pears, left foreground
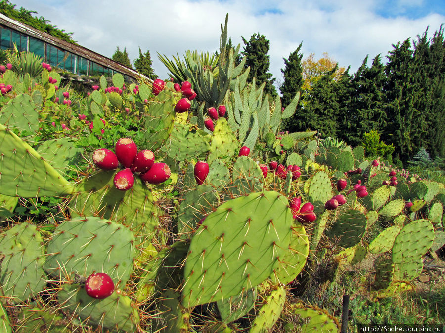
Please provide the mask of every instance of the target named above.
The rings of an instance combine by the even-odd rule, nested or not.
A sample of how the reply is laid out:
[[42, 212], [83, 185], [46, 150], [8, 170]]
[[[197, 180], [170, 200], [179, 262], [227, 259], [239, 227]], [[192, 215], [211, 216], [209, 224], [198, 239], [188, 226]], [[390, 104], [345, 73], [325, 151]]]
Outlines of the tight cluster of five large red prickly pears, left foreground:
[[119, 163], [122, 164], [124, 169], [114, 176], [114, 186], [119, 190], [126, 191], [133, 187], [134, 173], [150, 184], [160, 184], [170, 178], [169, 166], [155, 163], [151, 150], [137, 152], [136, 144], [130, 138], [119, 139], [115, 152], [105, 148], [98, 149], [93, 154], [93, 161], [102, 170], [115, 170]]

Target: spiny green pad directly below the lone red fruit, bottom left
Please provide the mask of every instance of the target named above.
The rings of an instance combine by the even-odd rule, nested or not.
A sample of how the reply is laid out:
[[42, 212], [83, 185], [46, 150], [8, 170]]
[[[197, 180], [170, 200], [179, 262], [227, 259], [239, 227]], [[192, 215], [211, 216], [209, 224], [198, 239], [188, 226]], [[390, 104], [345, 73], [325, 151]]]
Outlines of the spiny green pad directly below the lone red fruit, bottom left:
[[85, 288], [78, 284], [64, 284], [57, 293], [61, 306], [74, 312], [81, 321], [105, 327], [112, 332], [136, 332], [139, 314], [131, 298], [114, 291], [104, 299], [87, 295]]

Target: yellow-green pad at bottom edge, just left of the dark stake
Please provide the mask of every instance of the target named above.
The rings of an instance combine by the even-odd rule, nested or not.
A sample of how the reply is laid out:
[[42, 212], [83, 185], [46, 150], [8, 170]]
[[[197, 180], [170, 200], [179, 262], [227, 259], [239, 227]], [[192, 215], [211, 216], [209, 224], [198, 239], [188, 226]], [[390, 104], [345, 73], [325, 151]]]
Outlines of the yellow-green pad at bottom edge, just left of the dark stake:
[[304, 324], [302, 324], [300, 329], [301, 333], [340, 332], [340, 325], [337, 319], [321, 309], [294, 307], [292, 313], [304, 319]]

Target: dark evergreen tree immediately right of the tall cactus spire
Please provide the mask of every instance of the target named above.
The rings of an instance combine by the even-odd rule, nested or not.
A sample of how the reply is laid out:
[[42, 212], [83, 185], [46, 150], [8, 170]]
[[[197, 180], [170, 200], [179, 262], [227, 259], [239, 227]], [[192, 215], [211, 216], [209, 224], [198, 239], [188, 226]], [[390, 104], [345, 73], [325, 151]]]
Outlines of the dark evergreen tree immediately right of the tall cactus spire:
[[269, 52], [269, 41], [264, 35], [259, 33], [253, 34], [249, 41], [244, 39], [244, 37], [242, 38], [245, 45], [241, 54], [247, 57], [245, 66], [250, 66], [250, 72], [247, 77], [248, 82], [252, 82], [254, 77], [257, 86], [266, 82], [264, 92], [272, 97], [276, 97], [277, 92], [273, 86], [275, 78], [272, 78], [272, 74], [268, 73], [270, 66], [270, 56], [267, 55]]

